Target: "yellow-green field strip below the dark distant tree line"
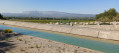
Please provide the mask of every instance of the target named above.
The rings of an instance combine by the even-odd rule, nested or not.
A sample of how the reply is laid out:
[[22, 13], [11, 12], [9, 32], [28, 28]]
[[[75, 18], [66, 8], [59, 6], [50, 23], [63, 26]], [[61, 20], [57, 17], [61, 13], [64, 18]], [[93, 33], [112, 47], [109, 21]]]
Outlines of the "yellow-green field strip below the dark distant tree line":
[[11, 19], [10, 21], [22, 21], [22, 22], [33, 22], [33, 23], [68, 23], [68, 22], [94, 22], [94, 20], [23, 20], [23, 19]]

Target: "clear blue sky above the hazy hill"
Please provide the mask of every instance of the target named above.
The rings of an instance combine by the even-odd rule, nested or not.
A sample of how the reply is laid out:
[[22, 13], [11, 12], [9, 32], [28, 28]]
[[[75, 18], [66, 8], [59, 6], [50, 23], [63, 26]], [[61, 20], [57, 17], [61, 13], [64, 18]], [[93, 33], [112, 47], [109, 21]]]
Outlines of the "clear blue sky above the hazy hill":
[[98, 14], [115, 8], [119, 0], [0, 0], [0, 12], [61, 11], [81, 14]]

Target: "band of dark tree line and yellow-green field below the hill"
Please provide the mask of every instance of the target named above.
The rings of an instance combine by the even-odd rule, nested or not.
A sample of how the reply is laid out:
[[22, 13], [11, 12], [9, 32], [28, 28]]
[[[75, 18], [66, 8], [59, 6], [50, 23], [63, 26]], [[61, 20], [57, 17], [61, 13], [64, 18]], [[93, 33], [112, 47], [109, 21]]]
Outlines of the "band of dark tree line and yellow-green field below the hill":
[[23, 21], [23, 22], [33, 22], [33, 23], [57, 23], [57, 22], [92, 22], [94, 21], [93, 17], [5, 17], [10, 21]]

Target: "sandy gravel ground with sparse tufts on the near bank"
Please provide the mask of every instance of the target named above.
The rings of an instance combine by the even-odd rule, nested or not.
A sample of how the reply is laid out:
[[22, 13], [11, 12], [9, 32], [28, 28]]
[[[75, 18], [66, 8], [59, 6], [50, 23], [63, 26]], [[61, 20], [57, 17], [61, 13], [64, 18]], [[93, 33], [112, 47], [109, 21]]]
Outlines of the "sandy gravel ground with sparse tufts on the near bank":
[[13, 35], [8, 38], [8, 41], [0, 41], [0, 50], [5, 51], [5, 53], [103, 53], [87, 48], [21, 34]]

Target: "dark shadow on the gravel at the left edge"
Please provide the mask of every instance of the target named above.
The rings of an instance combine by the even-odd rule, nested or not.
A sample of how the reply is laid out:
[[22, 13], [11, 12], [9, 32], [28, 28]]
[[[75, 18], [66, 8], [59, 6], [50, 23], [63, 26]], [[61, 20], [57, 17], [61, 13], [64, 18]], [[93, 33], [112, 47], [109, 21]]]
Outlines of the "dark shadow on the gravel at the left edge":
[[[8, 34], [7, 38], [10, 39], [13, 36], [20, 36], [20, 35], [22, 35], [22, 34]], [[5, 40], [5, 37], [2, 39], [0, 38], [0, 53], [5, 53], [5, 51], [9, 51], [15, 47], [15, 44], [12, 44], [12, 42], [14, 42], [14, 41], [10, 41], [10, 40], [3, 41], [3, 40]]]

